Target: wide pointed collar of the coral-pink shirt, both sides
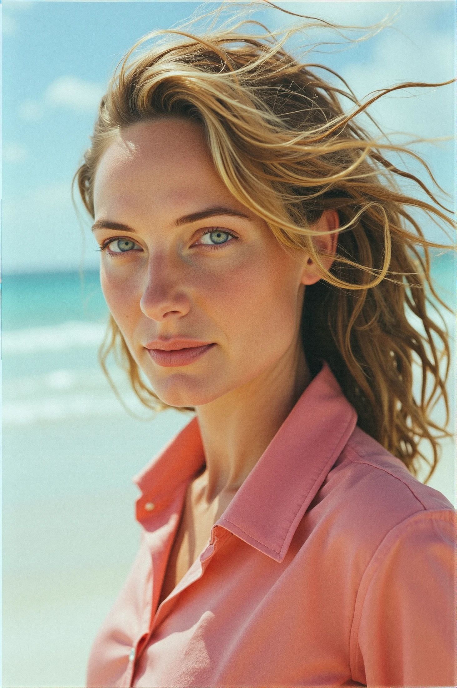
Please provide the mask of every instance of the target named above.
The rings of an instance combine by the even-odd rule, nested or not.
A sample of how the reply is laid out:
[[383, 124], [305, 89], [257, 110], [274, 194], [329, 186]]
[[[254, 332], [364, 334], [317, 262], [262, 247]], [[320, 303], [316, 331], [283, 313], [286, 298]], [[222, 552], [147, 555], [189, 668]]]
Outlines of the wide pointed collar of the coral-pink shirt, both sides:
[[[355, 409], [324, 361], [216, 525], [282, 561], [356, 422]], [[145, 505], [153, 500], [156, 506], [168, 503], [204, 462], [194, 418], [133, 478], [142, 491], [137, 518], [143, 520]]]

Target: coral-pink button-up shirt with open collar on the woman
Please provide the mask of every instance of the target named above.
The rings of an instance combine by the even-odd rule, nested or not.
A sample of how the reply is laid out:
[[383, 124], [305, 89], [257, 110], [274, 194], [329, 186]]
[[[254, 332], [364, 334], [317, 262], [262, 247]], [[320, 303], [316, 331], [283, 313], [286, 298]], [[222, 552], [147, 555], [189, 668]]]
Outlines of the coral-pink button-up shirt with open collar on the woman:
[[159, 608], [197, 419], [135, 477], [142, 544], [89, 686], [454, 686], [456, 517], [324, 363]]

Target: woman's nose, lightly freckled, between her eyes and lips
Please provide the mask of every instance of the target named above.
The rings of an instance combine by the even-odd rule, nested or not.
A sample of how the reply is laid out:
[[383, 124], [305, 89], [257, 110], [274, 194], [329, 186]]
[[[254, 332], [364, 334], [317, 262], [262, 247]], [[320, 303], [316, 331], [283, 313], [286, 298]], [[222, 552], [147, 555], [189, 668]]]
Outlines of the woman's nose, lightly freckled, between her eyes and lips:
[[182, 272], [164, 253], [150, 256], [140, 308], [148, 318], [157, 322], [181, 318], [190, 311]]

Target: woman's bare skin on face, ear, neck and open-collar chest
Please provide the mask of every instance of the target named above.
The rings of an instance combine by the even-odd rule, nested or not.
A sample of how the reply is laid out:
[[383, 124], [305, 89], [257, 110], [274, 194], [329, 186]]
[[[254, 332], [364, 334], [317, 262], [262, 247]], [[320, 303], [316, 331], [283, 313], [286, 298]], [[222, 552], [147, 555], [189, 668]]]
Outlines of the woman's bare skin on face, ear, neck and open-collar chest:
[[[188, 486], [164, 599], [311, 380], [300, 320], [305, 285], [320, 273], [304, 252], [286, 252], [232, 196], [191, 122], [162, 119], [123, 129], [100, 160], [94, 206], [96, 222], [129, 228], [94, 229], [100, 246], [111, 242], [100, 262], [109, 310], [157, 396], [196, 407], [205, 453], [204, 473]], [[215, 206], [247, 217], [176, 224]], [[317, 229], [336, 222], [336, 213], [324, 213]], [[214, 248], [208, 244], [216, 229], [227, 241]], [[336, 235], [324, 234], [319, 243], [333, 252]], [[174, 337], [213, 346], [189, 365], [158, 365], [146, 343]]]

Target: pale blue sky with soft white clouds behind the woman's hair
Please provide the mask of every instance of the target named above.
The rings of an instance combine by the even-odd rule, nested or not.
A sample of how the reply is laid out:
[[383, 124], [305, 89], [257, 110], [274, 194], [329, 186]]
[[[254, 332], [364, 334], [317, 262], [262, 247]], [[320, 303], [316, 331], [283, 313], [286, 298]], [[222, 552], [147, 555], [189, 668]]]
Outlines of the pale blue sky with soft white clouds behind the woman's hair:
[[[218, 3], [219, 4], [219, 3]], [[216, 5], [216, 3], [214, 3]], [[281, 3], [295, 12], [370, 25], [399, 10], [386, 28], [349, 50], [312, 56], [337, 69], [358, 96], [403, 80], [454, 76], [452, 0]], [[189, 17], [194, 2], [3, 2], [2, 266], [5, 273], [78, 270], [80, 228], [70, 200], [98, 100], [124, 52], [146, 32]], [[269, 28], [293, 23], [277, 10], [258, 15]], [[297, 50], [297, 45], [291, 45]], [[374, 110], [388, 131], [452, 136], [454, 87], [391, 97]], [[452, 142], [421, 144], [438, 181], [451, 192]], [[84, 266], [98, 255], [85, 221]], [[436, 230], [427, 228], [429, 236]], [[439, 238], [439, 237], [438, 237]]]

